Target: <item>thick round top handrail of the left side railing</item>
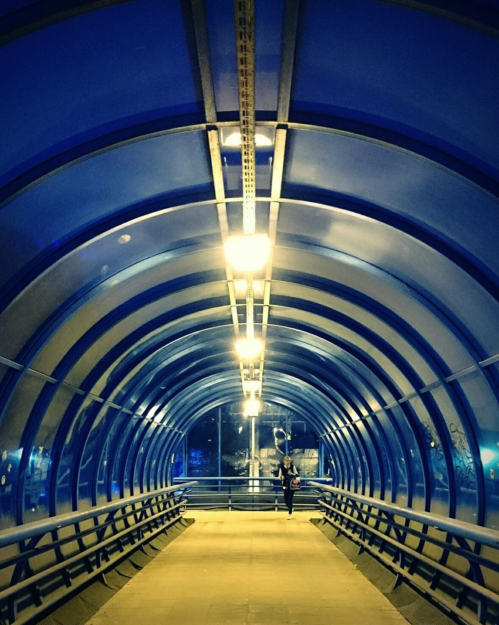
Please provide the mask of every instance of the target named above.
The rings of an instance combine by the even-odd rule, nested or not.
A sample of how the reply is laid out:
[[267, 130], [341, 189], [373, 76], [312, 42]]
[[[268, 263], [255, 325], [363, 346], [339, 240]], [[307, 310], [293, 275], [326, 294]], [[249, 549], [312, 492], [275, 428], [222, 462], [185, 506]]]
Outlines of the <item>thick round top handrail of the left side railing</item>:
[[[190, 487], [195, 484], [195, 481], [185, 482], [182, 487]], [[140, 503], [141, 501], [147, 501], [147, 499], [154, 499], [161, 494], [169, 494], [170, 492], [177, 492], [178, 486], [169, 486], [167, 488], [160, 488], [156, 491], [149, 491], [132, 497], [126, 497], [117, 501], [109, 502], [109, 504], [103, 504], [102, 506], [94, 506], [87, 510], [66, 512], [65, 514], [59, 514], [57, 516], [51, 516], [47, 519], [40, 519], [39, 521], [32, 521], [25, 523], [24, 525], [18, 525], [15, 527], [8, 527], [0, 531], [0, 547], [5, 547], [15, 542], [27, 540], [33, 536], [39, 536], [39, 534], [46, 534], [47, 532], [54, 531], [54, 529], [61, 529], [61, 527], [67, 527], [68, 525], [74, 525], [87, 519], [92, 519], [101, 514], [108, 514], [114, 512], [126, 506], [132, 506], [133, 504]]]

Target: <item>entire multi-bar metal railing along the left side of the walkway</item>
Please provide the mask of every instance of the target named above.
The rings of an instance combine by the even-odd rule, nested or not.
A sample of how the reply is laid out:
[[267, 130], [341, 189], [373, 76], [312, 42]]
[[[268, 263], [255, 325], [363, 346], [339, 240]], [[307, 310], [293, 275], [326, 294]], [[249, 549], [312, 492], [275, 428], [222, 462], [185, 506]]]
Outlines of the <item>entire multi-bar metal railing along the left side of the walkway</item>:
[[[39, 619], [182, 521], [170, 486], [0, 532], [0, 623]], [[144, 552], [144, 557], [148, 554]]]

